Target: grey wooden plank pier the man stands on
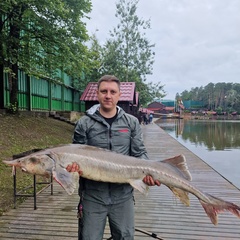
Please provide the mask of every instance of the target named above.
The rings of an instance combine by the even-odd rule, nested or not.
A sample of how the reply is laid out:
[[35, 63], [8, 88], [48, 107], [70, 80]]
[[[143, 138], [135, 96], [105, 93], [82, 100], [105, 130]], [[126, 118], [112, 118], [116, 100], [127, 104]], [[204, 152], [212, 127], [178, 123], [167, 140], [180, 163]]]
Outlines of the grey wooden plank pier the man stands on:
[[[218, 174], [191, 151], [178, 143], [156, 124], [142, 126], [149, 157], [154, 160], [184, 154], [192, 183], [204, 192], [231, 201], [240, 206], [240, 190]], [[45, 190], [37, 197], [27, 199], [17, 209], [0, 217], [0, 239], [74, 240], [77, 239], [76, 206], [79, 197], [72, 196], [56, 183], [54, 193]], [[190, 195], [190, 207], [184, 206], [165, 187], [151, 187], [147, 197], [135, 191], [136, 229], [154, 233], [164, 240], [237, 240], [240, 239], [240, 219], [228, 212], [219, 214], [214, 226], [198, 199]], [[94, 228], [94, 226], [93, 226]], [[136, 231], [136, 240], [153, 239]], [[104, 239], [110, 238], [106, 227]]]

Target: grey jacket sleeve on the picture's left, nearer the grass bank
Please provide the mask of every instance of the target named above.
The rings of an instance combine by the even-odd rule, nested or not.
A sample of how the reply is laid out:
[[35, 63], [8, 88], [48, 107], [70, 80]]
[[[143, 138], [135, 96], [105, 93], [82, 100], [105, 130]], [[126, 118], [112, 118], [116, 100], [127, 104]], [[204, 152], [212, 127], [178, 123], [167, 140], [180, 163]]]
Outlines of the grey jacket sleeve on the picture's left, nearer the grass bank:
[[81, 117], [75, 125], [73, 139], [72, 139], [73, 143], [86, 144], [87, 142], [84, 120], [85, 120], [85, 117]]

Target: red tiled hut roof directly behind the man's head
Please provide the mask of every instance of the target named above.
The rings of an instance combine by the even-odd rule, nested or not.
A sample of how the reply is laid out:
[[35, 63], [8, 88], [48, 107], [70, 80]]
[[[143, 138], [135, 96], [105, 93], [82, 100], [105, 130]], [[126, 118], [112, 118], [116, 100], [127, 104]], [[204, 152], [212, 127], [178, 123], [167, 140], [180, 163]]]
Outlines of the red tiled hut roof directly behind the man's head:
[[[84, 90], [80, 100], [81, 101], [98, 101], [97, 94], [97, 82], [88, 83]], [[135, 82], [121, 82], [120, 84], [121, 97], [119, 101], [135, 102]]]

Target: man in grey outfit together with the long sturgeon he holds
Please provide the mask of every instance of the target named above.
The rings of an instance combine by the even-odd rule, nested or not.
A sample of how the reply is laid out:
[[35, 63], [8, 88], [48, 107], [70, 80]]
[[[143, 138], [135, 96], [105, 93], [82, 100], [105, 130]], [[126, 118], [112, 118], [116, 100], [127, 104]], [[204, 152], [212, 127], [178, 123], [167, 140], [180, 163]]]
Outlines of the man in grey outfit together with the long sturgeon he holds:
[[197, 197], [214, 225], [218, 214], [225, 211], [240, 218], [240, 206], [204, 193], [190, 183], [184, 155], [145, 160], [147, 153], [137, 119], [117, 107], [119, 89], [119, 80], [114, 76], [100, 79], [100, 105], [89, 109], [75, 127], [73, 142], [79, 144], [47, 148], [3, 162], [26, 173], [53, 176], [70, 195], [81, 175], [81, 240], [101, 240], [107, 217], [114, 240], [133, 239], [133, 188], [146, 195], [148, 186], [159, 186], [160, 182], [186, 206], [190, 205], [189, 193]]

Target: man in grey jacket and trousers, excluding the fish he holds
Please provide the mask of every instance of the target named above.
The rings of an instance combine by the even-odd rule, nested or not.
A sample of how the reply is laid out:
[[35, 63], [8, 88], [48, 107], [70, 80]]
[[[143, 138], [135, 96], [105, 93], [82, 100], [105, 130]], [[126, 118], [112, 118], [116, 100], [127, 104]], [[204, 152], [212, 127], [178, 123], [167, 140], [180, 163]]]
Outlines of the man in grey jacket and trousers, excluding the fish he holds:
[[[76, 124], [73, 143], [88, 144], [112, 151], [147, 159], [142, 132], [137, 118], [117, 106], [121, 96], [120, 81], [105, 75], [98, 81], [99, 104], [90, 108]], [[77, 164], [67, 167], [78, 171]], [[160, 185], [146, 176], [143, 181]], [[134, 239], [133, 188], [129, 184], [96, 182], [80, 178], [79, 240], [101, 240], [106, 219], [109, 220], [114, 240]]]

